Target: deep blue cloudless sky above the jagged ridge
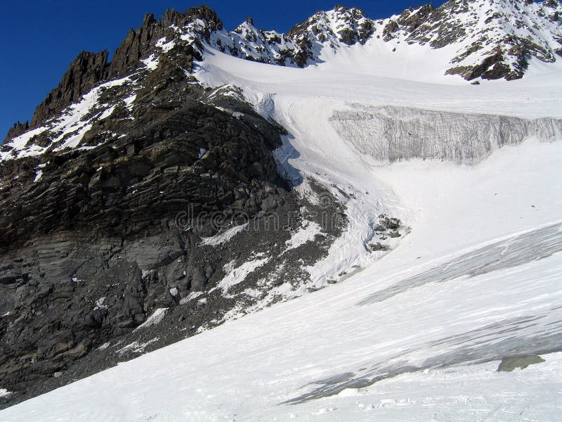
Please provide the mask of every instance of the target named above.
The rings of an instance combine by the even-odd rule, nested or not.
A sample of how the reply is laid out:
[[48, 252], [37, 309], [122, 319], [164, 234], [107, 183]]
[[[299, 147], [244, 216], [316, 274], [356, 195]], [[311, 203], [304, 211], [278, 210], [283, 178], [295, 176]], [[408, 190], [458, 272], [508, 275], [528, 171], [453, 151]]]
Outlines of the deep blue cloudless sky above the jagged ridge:
[[[2, 1], [0, 46], [0, 142], [17, 120], [29, 120], [35, 107], [56, 87], [72, 59], [82, 50], [110, 54], [130, 27], [141, 25], [145, 13], [157, 18], [166, 8], [185, 11], [206, 4], [228, 30], [251, 15], [257, 27], [286, 32], [337, 0], [58, 0]], [[346, 4], [344, 0], [341, 4]], [[370, 18], [386, 18], [416, 6], [412, 0], [353, 0]], [[424, 1], [420, 2], [421, 4]], [[435, 6], [443, 1], [433, 1]]]

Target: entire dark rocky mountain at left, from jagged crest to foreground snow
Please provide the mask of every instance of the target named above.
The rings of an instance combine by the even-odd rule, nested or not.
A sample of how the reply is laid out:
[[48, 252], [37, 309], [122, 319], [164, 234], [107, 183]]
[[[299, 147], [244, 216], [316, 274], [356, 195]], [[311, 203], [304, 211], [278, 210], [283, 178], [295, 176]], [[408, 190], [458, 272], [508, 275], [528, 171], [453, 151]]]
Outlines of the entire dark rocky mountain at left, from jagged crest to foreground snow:
[[[174, 39], [170, 25], [195, 18], [208, 24], [203, 39], [222, 27], [208, 8], [168, 11], [147, 15], [112, 63], [81, 53], [37, 108], [32, 126], [46, 129], [27, 146], [41, 153], [1, 162], [0, 385], [14, 394], [0, 407], [284, 300], [272, 289], [309, 281], [304, 268], [341, 234], [334, 201], [322, 212], [337, 224], [287, 250], [303, 219], [321, 220], [277, 171], [272, 151], [286, 132], [240, 90], [197, 83], [197, 45], [157, 48]], [[50, 120], [78, 113], [65, 107], [84, 95], [82, 132]], [[236, 227], [232, 239], [204, 241]], [[160, 324], [139, 328], [159, 313]]]

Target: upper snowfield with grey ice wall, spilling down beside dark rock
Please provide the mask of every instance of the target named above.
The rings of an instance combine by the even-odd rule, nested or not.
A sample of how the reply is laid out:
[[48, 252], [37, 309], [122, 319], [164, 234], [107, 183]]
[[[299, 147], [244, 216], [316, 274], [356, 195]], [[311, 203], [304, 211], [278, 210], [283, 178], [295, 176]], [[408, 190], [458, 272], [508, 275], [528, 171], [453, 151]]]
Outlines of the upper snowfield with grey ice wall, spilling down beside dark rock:
[[[362, 48], [364, 46], [352, 47]], [[437, 148], [439, 153], [414, 155], [438, 161], [447, 158], [447, 151], [450, 151], [447, 159], [462, 162], [464, 156], [466, 162], [478, 162], [504, 145], [529, 139], [547, 142], [561, 139], [562, 107], [557, 99], [562, 95], [558, 83], [560, 73], [509, 83], [495, 82], [480, 89], [466, 84], [429, 84], [374, 76], [370, 74], [368, 58], [360, 54], [355, 57], [355, 61], [347, 64], [327, 62], [299, 70], [248, 63], [210, 49], [195, 72], [197, 78], [209, 86], [228, 82], [241, 87], [256, 110], [287, 128], [289, 148], [280, 151], [278, 159], [288, 158], [289, 167], [299, 170], [294, 177], [297, 184], [299, 176], [308, 176], [324, 181], [325, 186], [334, 184], [346, 191], [351, 224], [334, 245], [334, 253], [311, 269], [315, 287], [325, 286], [334, 276], [352, 273], [354, 267], [365, 267], [377, 259], [365, 249], [365, 243], [370, 241], [372, 222], [376, 223], [378, 215], [399, 217], [407, 225], [418, 217], [414, 207], [393, 206], [401, 201], [392, 187], [372, 181], [372, 166], [379, 167], [381, 160], [389, 158], [386, 151], [390, 150], [384, 155], [373, 152], [377, 145], [384, 143], [381, 141], [383, 134], [373, 131], [372, 124], [362, 124], [362, 120], [352, 120], [351, 124], [341, 127], [334, 116], [342, 110], [394, 110], [387, 118], [404, 129], [406, 139], [419, 136], [434, 145], [443, 139], [443, 145]], [[404, 113], [409, 107], [415, 108], [414, 113]], [[435, 136], [440, 129], [429, 122], [428, 116], [438, 116], [436, 120], [440, 120], [443, 134]], [[443, 116], [457, 124], [444, 124]], [[477, 120], [483, 120], [481, 133], [474, 124]], [[537, 125], [533, 120], [541, 123]], [[497, 124], [502, 121], [509, 124]], [[549, 127], [546, 132], [542, 132], [543, 122]], [[521, 128], [527, 125], [532, 129], [525, 133]], [[424, 134], [427, 127], [431, 127], [431, 135]], [[398, 139], [394, 143], [395, 153], [412, 158], [408, 155], [410, 145], [400, 139], [399, 134], [392, 133], [394, 139]], [[461, 148], [459, 139], [467, 140]], [[464, 155], [455, 155], [455, 148]], [[297, 188], [308, 194], [305, 185]], [[337, 188], [332, 191], [341, 198]]]

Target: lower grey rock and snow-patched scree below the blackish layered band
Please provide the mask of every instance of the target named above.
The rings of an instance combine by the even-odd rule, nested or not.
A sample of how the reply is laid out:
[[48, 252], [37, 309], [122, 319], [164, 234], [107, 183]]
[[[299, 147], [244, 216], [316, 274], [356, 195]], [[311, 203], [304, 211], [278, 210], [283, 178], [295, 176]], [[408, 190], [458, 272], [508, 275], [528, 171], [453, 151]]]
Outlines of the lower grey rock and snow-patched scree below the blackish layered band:
[[[2, 274], [21, 275], [0, 279], [0, 309], [17, 304], [0, 320], [0, 380], [15, 392], [0, 408], [222, 324], [228, 312], [256, 301], [247, 289], [261, 289], [263, 299], [263, 283], [273, 289], [306, 281], [303, 267], [325, 255], [341, 227], [326, 227], [314, 243], [286, 250], [292, 229], [303, 217], [313, 220], [318, 210], [281, 188], [268, 190], [277, 191], [267, 201], [275, 214], [251, 219], [247, 230], [218, 246], [162, 221], [128, 241], [67, 231], [4, 256]], [[341, 212], [337, 203], [332, 207], [325, 211]], [[268, 260], [223, 290], [227, 269], [257, 251], [267, 251]], [[270, 295], [266, 306], [282, 299]], [[162, 322], [139, 327], [156, 309], [165, 309]]]

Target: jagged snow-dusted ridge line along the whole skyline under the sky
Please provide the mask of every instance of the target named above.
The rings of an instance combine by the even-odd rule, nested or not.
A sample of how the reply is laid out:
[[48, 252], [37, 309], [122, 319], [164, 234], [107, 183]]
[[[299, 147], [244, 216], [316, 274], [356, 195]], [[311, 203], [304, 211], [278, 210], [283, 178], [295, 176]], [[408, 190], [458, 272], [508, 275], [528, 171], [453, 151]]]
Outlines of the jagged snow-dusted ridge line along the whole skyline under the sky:
[[326, 51], [336, 53], [370, 40], [405, 48], [450, 46], [446, 74], [468, 80], [516, 79], [524, 75], [530, 60], [551, 63], [562, 56], [561, 15], [558, 0], [450, 0], [439, 8], [426, 4], [374, 21], [360, 8], [336, 4], [282, 34], [258, 30], [251, 17], [228, 32], [207, 6], [183, 13], [172, 8], [159, 20], [145, 15], [141, 26], [129, 31], [111, 63], [107, 63], [107, 51], [81, 53], [39, 105], [30, 127], [53, 117], [96, 84], [143, 69], [145, 63], [157, 63], [173, 48], [202, 58], [205, 45], [210, 45], [247, 60], [302, 68], [321, 63]]

